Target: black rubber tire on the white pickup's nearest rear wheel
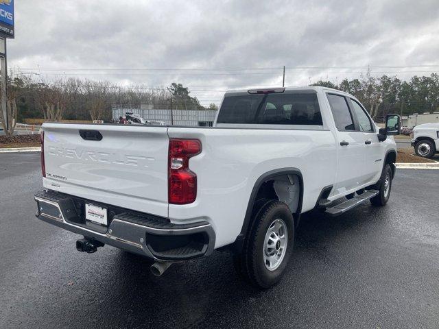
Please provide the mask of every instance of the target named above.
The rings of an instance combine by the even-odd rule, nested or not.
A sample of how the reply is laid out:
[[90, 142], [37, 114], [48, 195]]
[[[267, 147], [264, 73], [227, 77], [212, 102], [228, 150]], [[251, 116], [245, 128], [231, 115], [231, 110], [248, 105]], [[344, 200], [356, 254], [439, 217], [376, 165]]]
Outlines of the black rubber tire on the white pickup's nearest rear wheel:
[[[259, 203], [261, 204], [261, 203]], [[262, 202], [263, 206], [254, 212], [252, 225], [241, 254], [234, 256], [234, 264], [239, 276], [250, 282], [259, 289], [268, 289], [281, 280], [285, 267], [292, 255], [294, 247], [294, 219], [288, 206], [283, 202], [271, 200]], [[274, 226], [280, 225], [285, 231], [283, 235], [286, 241], [285, 249], [281, 252], [281, 242], [272, 245], [274, 253], [281, 252], [277, 266], [269, 269], [270, 265], [265, 263], [265, 241], [269, 230], [272, 232]], [[286, 235], [285, 235], [286, 232]], [[270, 239], [269, 239], [270, 240]], [[285, 242], [284, 242], [285, 243]], [[275, 257], [276, 259], [276, 257]]]

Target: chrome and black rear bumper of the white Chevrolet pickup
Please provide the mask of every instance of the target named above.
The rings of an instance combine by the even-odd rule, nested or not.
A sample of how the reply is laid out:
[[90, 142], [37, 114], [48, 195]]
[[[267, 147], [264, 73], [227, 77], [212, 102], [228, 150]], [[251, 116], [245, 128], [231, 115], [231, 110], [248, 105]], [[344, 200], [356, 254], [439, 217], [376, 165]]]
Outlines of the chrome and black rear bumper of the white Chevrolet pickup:
[[163, 217], [100, 204], [114, 213], [106, 227], [84, 218], [84, 203], [96, 202], [53, 191], [38, 192], [34, 199], [38, 219], [155, 260], [207, 256], [215, 245], [215, 232], [206, 221], [177, 225]]

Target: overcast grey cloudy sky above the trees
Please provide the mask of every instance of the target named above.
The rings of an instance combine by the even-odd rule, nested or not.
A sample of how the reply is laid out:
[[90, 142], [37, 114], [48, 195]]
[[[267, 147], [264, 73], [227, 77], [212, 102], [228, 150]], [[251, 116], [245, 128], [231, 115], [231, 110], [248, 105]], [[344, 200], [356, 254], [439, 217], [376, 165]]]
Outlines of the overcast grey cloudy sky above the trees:
[[202, 103], [228, 88], [277, 86], [283, 65], [287, 86], [340, 82], [368, 65], [403, 79], [439, 71], [438, 0], [16, 0], [15, 22], [13, 69], [180, 82]]

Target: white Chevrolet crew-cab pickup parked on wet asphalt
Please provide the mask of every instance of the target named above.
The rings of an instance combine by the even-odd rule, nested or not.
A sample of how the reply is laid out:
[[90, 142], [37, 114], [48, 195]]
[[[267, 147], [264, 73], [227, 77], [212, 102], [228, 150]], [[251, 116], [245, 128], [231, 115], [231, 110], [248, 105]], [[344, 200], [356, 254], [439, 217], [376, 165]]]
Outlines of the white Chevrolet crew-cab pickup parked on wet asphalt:
[[268, 288], [300, 214], [388, 202], [399, 116], [386, 123], [322, 87], [229, 91], [214, 127], [45, 123], [36, 216], [83, 235], [82, 252], [146, 256], [156, 275], [228, 248], [238, 273]]

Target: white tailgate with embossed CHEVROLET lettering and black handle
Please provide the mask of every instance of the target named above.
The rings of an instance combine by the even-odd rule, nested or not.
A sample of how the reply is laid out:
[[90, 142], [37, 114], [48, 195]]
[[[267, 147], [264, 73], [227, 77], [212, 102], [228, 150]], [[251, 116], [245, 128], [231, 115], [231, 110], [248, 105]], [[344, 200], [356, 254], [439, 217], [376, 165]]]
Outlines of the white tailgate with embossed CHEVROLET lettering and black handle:
[[167, 127], [45, 123], [43, 130], [45, 188], [167, 217]]

